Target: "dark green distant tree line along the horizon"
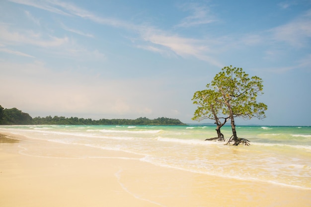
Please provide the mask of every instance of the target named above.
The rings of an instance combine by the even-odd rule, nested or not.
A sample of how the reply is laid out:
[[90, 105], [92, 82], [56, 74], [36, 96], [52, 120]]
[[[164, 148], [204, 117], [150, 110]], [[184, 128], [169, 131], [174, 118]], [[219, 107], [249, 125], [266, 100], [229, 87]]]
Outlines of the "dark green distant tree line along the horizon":
[[148, 119], [140, 117], [138, 119], [84, 119], [78, 117], [35, 117], [24, 113], [16, 108], [4, 109], [0, 105], [0, 125], [185, 125], [178, 119], [157, 118]]

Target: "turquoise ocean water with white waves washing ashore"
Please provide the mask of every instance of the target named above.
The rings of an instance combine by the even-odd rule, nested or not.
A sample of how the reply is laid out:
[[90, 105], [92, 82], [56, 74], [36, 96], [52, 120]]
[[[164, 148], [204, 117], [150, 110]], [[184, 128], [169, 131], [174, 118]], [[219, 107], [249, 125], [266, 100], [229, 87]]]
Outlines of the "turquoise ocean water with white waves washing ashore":
[[[238, 137], [250, 146], [205, 141], [217, 136], [214, 126], [32, 125], [0, 126], [0, 131], [139, 154], [141, 161], [184, 171], [311, 189], [311, 127], [237, 126]], [[222, 133], [228, 140], [231, 127]]]

